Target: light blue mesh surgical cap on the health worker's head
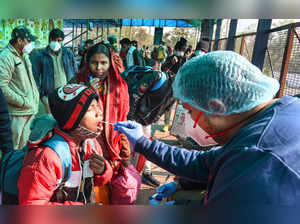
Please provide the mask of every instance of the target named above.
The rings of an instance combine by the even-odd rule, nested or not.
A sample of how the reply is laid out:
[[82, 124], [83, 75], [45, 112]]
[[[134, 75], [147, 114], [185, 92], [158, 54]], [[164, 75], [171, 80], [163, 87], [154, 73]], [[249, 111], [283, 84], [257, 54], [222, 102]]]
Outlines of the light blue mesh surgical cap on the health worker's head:
[[235, 52], [214, 51], [186, 62], [172, 87], [174, 97], [198, 110], [229, 115], [272, 99], [279, 83]]

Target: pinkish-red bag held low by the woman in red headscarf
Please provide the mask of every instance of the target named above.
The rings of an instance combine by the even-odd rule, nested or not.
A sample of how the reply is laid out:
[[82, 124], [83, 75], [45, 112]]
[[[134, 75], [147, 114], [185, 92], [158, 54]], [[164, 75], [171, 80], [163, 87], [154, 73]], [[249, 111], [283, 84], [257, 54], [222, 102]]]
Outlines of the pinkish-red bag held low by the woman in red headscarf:
[[120, 174], [111, 181], [111, 204], [132, 205], [141, 188], [141, 176], [133, 165], [121, 165], [120, 169]]

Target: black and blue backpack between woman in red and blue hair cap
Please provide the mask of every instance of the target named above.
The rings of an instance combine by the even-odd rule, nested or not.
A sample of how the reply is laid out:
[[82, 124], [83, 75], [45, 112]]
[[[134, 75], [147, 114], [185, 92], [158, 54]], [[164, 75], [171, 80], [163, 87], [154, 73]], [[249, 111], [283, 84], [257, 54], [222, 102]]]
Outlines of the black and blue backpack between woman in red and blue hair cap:
[[127, 119], [146, 126], [156, 122], [174, 104], [172, 81], [150, 66], [131, 66], [121, 74], [129, 90]]

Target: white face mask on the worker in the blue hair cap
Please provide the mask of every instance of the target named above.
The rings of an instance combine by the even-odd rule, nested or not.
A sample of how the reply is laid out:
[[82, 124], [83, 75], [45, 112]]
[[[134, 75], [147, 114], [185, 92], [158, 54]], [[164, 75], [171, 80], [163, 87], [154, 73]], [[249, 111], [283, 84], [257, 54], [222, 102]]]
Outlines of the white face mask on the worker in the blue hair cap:
[[194, 121], [191, 118], [189, 113], [185, 113], [185, 132], [188, 136], [191, 136], [199, 145], [205, 146], [212, 146], [218, 145], [218, 143], [211, 137], [206, 138], [209, 136], [207, 132], [205, 132], [199, 125], [197, 124], [195, 128], [193, 128]]

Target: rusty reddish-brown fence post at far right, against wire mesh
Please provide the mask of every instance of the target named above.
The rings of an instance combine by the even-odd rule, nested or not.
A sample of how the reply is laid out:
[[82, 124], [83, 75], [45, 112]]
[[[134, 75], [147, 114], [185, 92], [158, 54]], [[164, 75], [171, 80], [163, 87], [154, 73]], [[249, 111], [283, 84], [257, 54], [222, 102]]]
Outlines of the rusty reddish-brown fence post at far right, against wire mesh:
[[283, 91], [284, 91], [284, 87], [285, 87], [290, 57], [291, 57], [291, 53], [292, 53], [292, 49], [293, 49], [294, 35], [295, 35], [295, 27], [293, 25], [291, 25], [289, 28], [288, 34], [287, 34], [286, 45], [285, 45], [283, 59], [282, 59], [283, 63], [281, 66], [280, 79], [279, 79], [280, 89], [276, 95], [277, 97], [283, 96]]

